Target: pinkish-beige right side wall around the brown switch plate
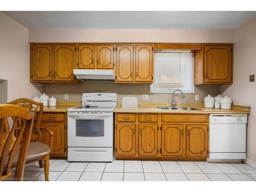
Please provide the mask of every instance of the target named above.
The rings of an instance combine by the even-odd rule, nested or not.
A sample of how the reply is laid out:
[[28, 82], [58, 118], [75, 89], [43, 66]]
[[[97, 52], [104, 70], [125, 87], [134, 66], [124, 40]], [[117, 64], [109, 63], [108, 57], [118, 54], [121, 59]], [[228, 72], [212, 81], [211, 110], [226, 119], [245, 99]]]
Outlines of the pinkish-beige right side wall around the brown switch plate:
[[235, 40], [233, 84], [220, 86], [220, 93], [236, 104], [251, 106], [247, 159], [256, 165], [256, 82], [249, 82], [249, 75], [256, 73], [256, 17], [235, 31]]

